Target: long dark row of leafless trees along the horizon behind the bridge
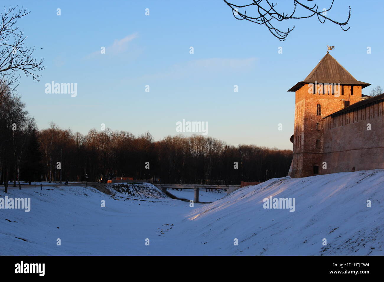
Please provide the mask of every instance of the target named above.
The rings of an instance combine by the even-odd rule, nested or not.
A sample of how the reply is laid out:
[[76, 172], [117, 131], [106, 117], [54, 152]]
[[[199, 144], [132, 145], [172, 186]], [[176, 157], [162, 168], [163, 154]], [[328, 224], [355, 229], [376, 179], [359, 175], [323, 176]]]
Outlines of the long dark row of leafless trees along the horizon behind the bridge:
[[286, 176], [291, 150], [227, 145], [203, 135], [89, 130], [83, 135], [51, 122], [39, 130], [25, 104], [11, 94], [0, 101], [0, 183], [100, 181], [132, 177], [162, 183], [240, 184]]

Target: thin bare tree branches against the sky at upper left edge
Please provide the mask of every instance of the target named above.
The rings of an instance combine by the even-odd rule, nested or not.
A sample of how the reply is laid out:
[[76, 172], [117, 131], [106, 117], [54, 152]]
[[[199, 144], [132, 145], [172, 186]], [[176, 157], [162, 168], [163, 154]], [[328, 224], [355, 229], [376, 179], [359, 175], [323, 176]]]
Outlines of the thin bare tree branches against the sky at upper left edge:
[[30, 48], [25, 43], [23, 30], [16, 26], [18, 19], [28, 15], [26, 9], [20, 10], [16, 7], [4, 7], [0, 13], [0, 101], [10, 95], [20, 76], [16, 71], [22, 71], [26, 76], [31, 75], [33, 80], [38, 81], [40, 75], [36, 71], [41, 71], [43, 59], [36, 59], [32, 56], [35, 48]]

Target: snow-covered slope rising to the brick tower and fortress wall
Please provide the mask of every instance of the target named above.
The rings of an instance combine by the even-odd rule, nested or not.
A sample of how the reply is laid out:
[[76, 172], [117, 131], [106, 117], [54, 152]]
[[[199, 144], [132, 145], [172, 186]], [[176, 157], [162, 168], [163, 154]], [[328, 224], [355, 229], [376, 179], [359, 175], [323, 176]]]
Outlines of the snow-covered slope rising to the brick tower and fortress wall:
[[[294, 198], [295, 211], [265, 209], [270, 196]], [[383, 255], [383, 218], [384, 170], [271, 179], [188, 216], [215, 254], [245, 255]]]

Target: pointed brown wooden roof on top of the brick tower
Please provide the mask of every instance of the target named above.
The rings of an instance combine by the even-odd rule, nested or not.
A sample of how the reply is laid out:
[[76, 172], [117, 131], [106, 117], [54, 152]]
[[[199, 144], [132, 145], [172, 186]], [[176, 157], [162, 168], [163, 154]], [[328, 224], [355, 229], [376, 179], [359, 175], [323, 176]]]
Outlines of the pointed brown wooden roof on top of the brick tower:
[[344, 67], [336, 61], [330, 54], [326, 54], [310, 74], [303, 80], [296, 83], [288, 92], [295, 92], [306, 83], [340, 83], [347, 85], [359, 85], [362, 88], [371, 84], [358, 81], [348, 73]]

